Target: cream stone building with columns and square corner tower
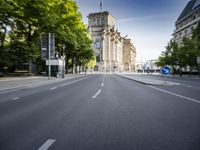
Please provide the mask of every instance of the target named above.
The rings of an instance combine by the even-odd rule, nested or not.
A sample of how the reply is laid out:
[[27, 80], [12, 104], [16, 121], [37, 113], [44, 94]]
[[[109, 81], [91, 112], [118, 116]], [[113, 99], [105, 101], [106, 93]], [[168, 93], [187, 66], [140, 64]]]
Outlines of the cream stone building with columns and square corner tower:
[[[135, 66], [136, 50], [131, 40], [126, 40], [115, 29], [115, 19], [109, 12], [89, 14], [88, 30], [96, 54], [96, 71], [122, 72], [125, 63]], [[130, 51], [131, 57], [124, 57], [127, 51]], [[134, 67], [130, 71], [135, 71]]]

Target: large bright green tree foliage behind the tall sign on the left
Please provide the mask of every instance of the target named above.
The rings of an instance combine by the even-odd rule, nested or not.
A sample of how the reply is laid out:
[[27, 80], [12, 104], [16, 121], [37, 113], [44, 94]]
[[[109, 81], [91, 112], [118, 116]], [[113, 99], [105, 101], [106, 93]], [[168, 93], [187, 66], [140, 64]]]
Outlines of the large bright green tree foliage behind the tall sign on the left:
[[[0, 0], [0, 69], [9, 63], [29, 63], [31, 72], [32, 62], [42, 63], [40, 37], [47, 32], [55, 34], [56, 51], [66, 55], [66, 70], [93, 59], [91, 40], [74, 0]], [[5, 49], [11, 52], [8, 56]], [[12, 56], [12, 61], [3, 55]]]

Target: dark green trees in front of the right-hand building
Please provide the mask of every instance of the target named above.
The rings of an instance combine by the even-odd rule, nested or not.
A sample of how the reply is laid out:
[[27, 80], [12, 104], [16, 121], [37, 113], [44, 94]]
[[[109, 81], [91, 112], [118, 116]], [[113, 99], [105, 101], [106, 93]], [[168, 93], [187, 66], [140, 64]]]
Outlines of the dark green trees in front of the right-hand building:
[[183, 38], [180, 46], [171, 40], [159, 57], [157, 65], [161, 67], [169, 65], [173, 68], [173, 72], [177, 68], [181, 75], [183, 67], [190, 66], [190, 72], [197, 67], [196, 58], [198, 56], [200, 56], [200, 24], [193, 31], [193, 37]]

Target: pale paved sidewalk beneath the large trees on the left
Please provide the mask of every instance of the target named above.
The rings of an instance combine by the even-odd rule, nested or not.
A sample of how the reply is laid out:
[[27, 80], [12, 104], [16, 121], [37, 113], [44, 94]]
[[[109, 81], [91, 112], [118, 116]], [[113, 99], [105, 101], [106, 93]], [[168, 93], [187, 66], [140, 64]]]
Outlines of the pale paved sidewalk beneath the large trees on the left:
[[84, 76], [84, 75], [67, 74], [67, 75], [65, 75], [65, 78], [51, 77], [51, 80], [49, 80], [48, 77], [43, 77], [43, 76], [1, 78], [0, 79], [0, 91], [46, 85], [46, 84], [60, 82], [60, 81], [64, 81], [67, 79], [72, 79], [72, 78], [81, 77], [81, 76]]

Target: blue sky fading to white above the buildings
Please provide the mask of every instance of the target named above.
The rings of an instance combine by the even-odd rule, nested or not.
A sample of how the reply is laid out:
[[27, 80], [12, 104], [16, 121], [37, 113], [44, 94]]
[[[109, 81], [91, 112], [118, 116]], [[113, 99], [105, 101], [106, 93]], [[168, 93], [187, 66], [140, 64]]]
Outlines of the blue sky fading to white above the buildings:
[[[101, 0], [75, 0], [88, 23], [89, 13], [100, 12]], [[157, 59], [172, 38], [175, 22], [189, 0], [102, 0], [102, 11], [116, 20], [116, 29], [136, 47], [137, 63]]]

